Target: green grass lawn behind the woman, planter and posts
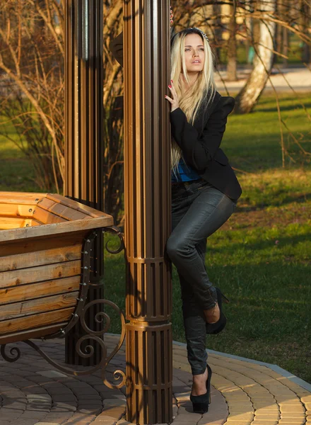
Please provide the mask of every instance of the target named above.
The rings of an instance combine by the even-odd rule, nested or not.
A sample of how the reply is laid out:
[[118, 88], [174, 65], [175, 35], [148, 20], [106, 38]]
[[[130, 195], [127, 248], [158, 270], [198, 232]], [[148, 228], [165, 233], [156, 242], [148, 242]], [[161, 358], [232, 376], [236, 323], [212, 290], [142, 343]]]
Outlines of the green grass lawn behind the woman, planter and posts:
[[[303, 96], [310, 108], [310, 96]], [[283, 120], [311, 151], [310, 121], [297, 99], [281, 98]], [[285, 133], [295, 162], [281, 165], [276, 103], [264, 96], [254, 113], [230, 115], [223, 149], [238, 174], [243, 194], [237, 212], [209, 238], [206, 268], [221, 286], [228, 326], [209, 336], [207, 347], [274, 363], [311, 382], [311, 166]], [[1, 190], [37, 190], [32, 166], [16, 147], [0, 139]], [[6, 179], [3, 181], [3, 179]], [[117, 240], [112, 238], [112, 246]], [[105, 254], [105, 297], [125, 306], [123, 253]], [[109, 310], [108, 310], [109, 312]], [[114, 316], [115, 317], [115, 316]], [[180, 287], [173, 269], [173, 338], [184, 341]], [[119, 332], [117, 317], [112, 332]]]

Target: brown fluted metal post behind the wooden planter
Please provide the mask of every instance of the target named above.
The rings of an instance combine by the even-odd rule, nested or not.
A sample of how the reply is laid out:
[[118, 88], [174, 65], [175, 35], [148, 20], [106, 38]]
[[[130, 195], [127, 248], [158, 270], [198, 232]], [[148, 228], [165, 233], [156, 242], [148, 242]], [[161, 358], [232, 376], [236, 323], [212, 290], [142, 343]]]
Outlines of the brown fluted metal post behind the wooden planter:
[[[65, 158], [64, 195], [103, 210], [103, 6], [102, 0], [65, 0]], [[103, 273], [102, 237], [95, 242], [91, 282]], [[103, 298], [103, 288], [90, 289], [88, 301]], [[100, 305], [89, 309], [88, 325], [100, 330], [93, 318]], [[66, 363], [94, 365], [100, 347], [83, 359], [76, 341], [77, 325], [66, 336]], [[88, 344], [91, 341], [87, 341]]]

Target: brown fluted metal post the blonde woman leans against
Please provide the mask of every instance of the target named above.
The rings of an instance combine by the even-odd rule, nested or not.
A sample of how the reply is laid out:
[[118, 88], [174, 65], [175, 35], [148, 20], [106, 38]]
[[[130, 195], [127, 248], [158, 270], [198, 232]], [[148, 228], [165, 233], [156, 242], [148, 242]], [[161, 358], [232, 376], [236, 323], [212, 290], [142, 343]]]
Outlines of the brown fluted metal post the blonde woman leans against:
[[124, 0], [127, 420], [172, 421], [170, 1]]

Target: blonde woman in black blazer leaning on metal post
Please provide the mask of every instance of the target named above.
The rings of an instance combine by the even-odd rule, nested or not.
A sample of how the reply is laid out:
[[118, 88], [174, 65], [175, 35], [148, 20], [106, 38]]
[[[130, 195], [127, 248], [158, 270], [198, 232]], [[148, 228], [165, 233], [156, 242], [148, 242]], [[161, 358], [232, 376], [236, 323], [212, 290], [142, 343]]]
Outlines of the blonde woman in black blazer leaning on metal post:
[[[220, 149], [234, 99], [222, 97], [213, 81], [213, 54], [198, 28], [177, 33], [171, 42], [172, 234], [167, 251], [177, 267], [192, 368], [194, 412], [209, 410], [211, 368], [206, 333], [225, 327], [221, 291], [206, 273], [206, 238], [233, 213], [241, 188]], [[123, 34], [110, 44], [123, 64]]]

